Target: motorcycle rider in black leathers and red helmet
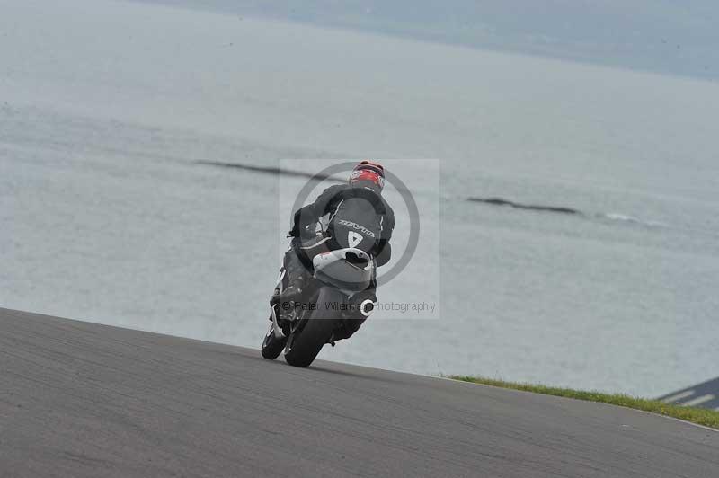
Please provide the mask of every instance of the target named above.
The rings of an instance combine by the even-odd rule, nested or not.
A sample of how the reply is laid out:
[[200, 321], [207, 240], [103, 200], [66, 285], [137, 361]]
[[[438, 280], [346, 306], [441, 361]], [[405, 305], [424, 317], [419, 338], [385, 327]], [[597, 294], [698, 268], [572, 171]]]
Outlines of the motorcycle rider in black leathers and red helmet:
[[[295, 212], [292, 237], [285, 253], [283, 268], [288, 287], [275, 291], [271, 305], [291, 304], [303, 297], [313, 275], [315, 255], [345, 247], [356, 247], [375, 258], [377, 267], [385, 265], [392, 255], [389, 241], [395, 228], [395, 213], [382, 197], [385, 169], [368, 160], [357, 164], [347, 184], [331, 186], [315, 202]], [[360, 294], [377, 301], [377, 282]], [[362, 314], [344, 321], [343, 330], [334, 333], [333, 341], [347, 339], [366, 317]]]

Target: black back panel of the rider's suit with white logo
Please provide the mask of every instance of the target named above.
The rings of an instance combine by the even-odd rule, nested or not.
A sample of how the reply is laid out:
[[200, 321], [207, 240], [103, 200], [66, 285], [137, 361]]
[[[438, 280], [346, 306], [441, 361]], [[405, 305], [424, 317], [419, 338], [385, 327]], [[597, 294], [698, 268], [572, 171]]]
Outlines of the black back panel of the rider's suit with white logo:
[[330, 221], [329, 232], [340, 248], [371, 254], [382, 233], [382, 217], [368, 199], [344, 199]]

